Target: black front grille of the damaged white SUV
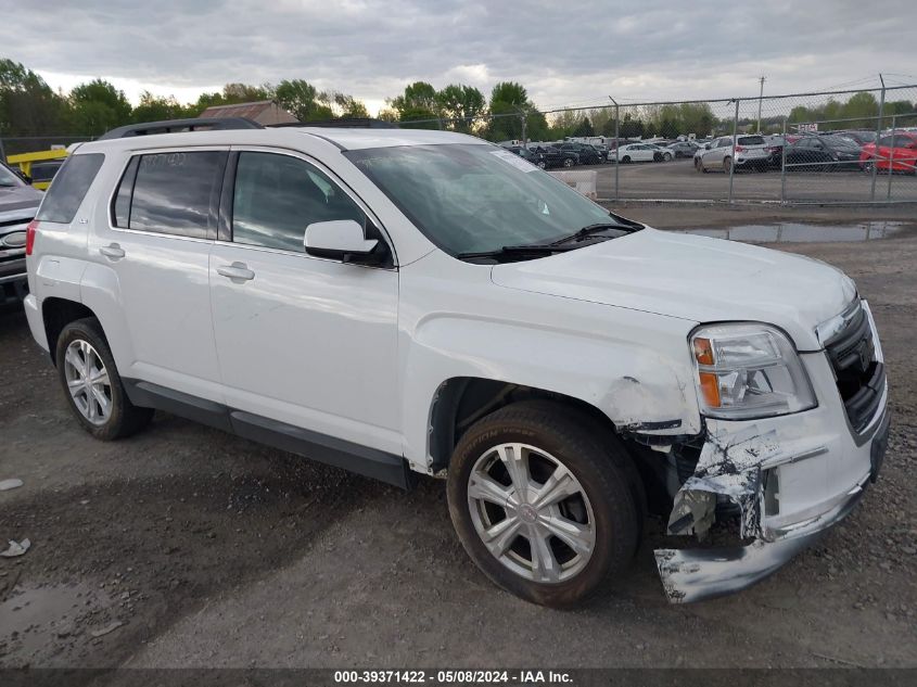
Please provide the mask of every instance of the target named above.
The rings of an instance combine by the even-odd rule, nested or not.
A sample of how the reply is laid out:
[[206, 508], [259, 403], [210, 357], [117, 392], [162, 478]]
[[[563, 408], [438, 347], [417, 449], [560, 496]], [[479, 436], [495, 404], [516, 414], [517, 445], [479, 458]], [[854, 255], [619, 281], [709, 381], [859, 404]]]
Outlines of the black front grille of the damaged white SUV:
[[875, 359], [876, 347], [866, 311], [858, 309], [825, 349], [851, 427], [862, 432], [875, 417], [886, 386], [886, 368]]

